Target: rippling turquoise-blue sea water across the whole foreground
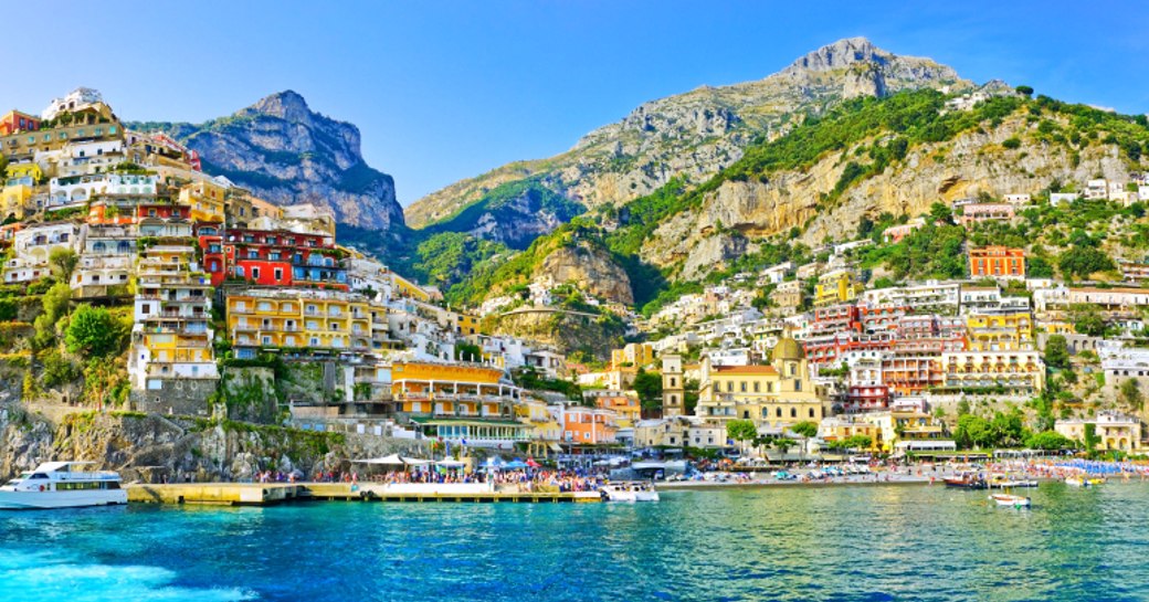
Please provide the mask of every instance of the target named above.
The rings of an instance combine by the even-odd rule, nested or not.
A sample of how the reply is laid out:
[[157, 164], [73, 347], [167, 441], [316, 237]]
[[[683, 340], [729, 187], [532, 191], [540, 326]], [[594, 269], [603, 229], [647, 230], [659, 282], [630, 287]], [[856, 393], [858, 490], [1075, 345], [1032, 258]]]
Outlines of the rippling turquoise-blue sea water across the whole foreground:
[[1147, 600], [1149, 484], [0, 514], [3, 601]]

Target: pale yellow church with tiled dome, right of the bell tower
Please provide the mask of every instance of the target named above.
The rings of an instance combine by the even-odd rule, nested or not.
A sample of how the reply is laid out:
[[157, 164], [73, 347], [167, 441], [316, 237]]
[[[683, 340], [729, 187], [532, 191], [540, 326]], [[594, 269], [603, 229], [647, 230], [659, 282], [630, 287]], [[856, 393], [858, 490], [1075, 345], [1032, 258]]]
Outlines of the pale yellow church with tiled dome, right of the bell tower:
[[782, 338], [770, 365], [711, 365], [702, 362], [695, 415], [725, 424], [749, 419], [759, 430], [780, 430], [825, 416], [802, 345]]

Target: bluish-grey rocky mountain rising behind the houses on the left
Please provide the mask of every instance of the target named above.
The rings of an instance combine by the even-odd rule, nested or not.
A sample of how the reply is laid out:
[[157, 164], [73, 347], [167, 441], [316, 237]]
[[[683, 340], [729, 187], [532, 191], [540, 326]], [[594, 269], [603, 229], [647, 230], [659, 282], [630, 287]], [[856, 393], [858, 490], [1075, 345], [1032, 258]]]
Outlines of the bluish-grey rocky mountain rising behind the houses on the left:
[[203, 170], [278, 204], [330, 207], [340, 223], [370, 229], [403, 224], [391, 176], [363, 161], [358, 128], [313, 111], [285, 91], [206, 123], [134, 123], [163, 131], [200, 153]]

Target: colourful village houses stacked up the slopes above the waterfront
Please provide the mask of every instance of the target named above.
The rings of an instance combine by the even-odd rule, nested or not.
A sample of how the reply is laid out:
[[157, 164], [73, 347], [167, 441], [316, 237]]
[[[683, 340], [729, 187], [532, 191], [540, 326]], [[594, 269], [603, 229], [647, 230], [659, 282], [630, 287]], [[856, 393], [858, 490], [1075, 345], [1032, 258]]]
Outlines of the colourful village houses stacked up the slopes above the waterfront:
[[[539, 456], [751, 453], [727, 432], [749, 420], [808, 452], [864, 435], [864, 452], [946, 454], [959, 407], [1023, 407], [1042, 395], [1052, 335], [1097, 357], [1105, 391], [1149, 386], [1149, 350], [1127, 335], [1143, 332], [1149, 308], [1146, 257], [1120, 258], [1120, 285], [1064, 284], [1031, 278], [1023, 248], [969, 244], [963, 279], [873, 286], [858, 254], [911, 236], [926, 224], [918, 216], [873, 239], [812, 249], [816, 261], [707, 285], [649, 318], [611, 308], [633, 342], [591, 368], [487, 332], [483, 317], [507, 299], [476, 312], [448, 307], [439, 291], [341, 245], [329, 209], [275, 204], [205, 173], [179, 141], [125, 129], [94, 90], [38, 115], [3, 115], [0, 155], [3, 284], [34, 291], [54, 277], [54, 256], [75, 255], [71, 302], [131, 316], [124, 409], [208, 416], [213, 402], [275, 369], [285, 411], [273, 419], [307, 430]], [[1089, 180], [1048, 202], [1129, 203], [1138, 192], [1126, 184]], [[1016, 221], [1034, 202], [1018, 191], [949, 204], [957, 225], [977, 227]], [[555, 287], [532, 283], [526, 302], [555, 303]], [[1070, 315], [1082, 306], [1123, 334], [1075, 332]], [[580, 394], [527, 388], [525, 373], [577, 384]], [[802, 423], [817, 435], [799, 437]], [[1078, 411], [1056, 430], [1081, 440], [1087, 425], [1103, 449], [1144, 448], [1132, 415]]]

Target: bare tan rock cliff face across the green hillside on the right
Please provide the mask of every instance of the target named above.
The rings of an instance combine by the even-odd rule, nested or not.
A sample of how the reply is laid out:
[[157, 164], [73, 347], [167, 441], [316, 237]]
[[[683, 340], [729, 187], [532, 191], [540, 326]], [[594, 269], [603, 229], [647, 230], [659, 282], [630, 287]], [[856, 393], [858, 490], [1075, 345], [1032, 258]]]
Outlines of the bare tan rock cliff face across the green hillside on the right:
[[[1065, 118], [1055, 121], [1067, 124]], [[693, 280], [753, 250], [748, 240], [793, 227], [804, 229], [802, 240], [818, 246], [827, 238], [853, 238], [866, 216], [874, 219], [886, 211], [916, 216], [935, 201], [980, 193], [994, 198], [1036, 194], [1054, 182], [1119, 180], [1128, 172], [1116, 146], [1074, 152], [1035, 140], [1031, 134], [1036, 129], [1036, 123], [1013, 115], [996, 128], [915, 147], [903, 162], [851, 186], [831, 207], [822, 204], [822, 199], [864, 144], [831, 153], [809, 169], [774, 173], [766, 182], [724, 182], [705, 195], [701, 207], [663, 222], [640, 254], [655, 265], [677, 270], [677, 278]], [[1002, 142], [1010, 138], [1020, 140], [1020, 146], [1005, 148]]]

